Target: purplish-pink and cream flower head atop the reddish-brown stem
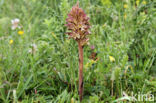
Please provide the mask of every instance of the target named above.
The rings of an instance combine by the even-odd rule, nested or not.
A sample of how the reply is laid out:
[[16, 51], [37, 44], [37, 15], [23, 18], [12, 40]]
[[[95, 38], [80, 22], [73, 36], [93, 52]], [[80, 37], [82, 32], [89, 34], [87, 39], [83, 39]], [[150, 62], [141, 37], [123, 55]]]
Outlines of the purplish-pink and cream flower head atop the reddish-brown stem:
[[82, 46], [85, 45], [89, 40], [87, 35], [90, 34], [90, 24], [89, 17], [79, 8], [79, 3], [73, 6], [68, 14], [66, 22], [66, 26], [68, 30], [70, 30], [70, 32], [67, 33], [69, 37], [80, 42]]

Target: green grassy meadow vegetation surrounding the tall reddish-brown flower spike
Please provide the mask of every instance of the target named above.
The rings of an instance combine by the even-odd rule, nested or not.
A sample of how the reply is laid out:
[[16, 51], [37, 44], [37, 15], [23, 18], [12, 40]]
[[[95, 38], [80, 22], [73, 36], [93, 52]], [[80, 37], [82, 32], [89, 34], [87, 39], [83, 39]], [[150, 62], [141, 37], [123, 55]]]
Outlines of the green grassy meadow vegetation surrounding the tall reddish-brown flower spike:
[[[78, 48], [64, 26], [76, 1], [0, 0], [0, 103], [79, 103]], [[156, 99], [156, 2], [79, 1], [92, 26], [83, 102], [127, 103], [132, 92]], [[21, 29], [11, 29], [14, 18]]]

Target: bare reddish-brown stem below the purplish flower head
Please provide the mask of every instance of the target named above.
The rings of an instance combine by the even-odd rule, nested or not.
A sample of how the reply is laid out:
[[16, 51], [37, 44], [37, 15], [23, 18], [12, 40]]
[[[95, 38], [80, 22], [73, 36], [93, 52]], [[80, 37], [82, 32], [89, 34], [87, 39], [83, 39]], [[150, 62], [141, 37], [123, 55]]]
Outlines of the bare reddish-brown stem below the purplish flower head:
[[78, 49], [79, 49], [79, 98], [80, 102], [83, 98], [83, 47], [78, 41]]

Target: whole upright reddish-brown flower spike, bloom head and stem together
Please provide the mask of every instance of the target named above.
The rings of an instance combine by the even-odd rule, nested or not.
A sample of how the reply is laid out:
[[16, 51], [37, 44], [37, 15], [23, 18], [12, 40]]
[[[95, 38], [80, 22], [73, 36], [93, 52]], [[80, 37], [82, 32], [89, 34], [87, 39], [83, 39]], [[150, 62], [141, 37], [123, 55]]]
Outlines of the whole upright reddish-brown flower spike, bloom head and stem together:
[[79, 3], [72, 7], [66, 19], [66, 26], [69, 30], [67, 34], [78, 43], [79, 50], [79, 97], [83, 97], [83, 46], [88, 43], [90, 34], [89, 17], [79, 8]]

